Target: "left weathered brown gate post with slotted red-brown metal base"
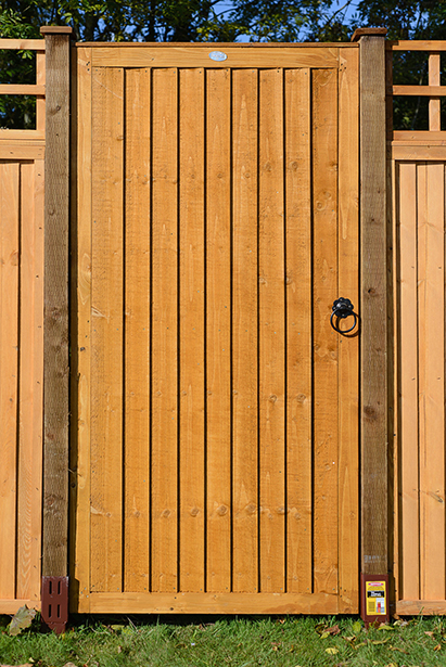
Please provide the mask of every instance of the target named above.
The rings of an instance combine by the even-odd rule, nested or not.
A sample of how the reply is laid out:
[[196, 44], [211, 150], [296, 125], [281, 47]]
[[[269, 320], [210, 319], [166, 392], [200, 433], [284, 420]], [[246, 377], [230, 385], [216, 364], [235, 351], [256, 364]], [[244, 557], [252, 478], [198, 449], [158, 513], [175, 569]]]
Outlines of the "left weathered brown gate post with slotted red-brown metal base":
[[69, 37], [42, 26], [46, 41], [42, 617], [68, 617], [68, 232]]

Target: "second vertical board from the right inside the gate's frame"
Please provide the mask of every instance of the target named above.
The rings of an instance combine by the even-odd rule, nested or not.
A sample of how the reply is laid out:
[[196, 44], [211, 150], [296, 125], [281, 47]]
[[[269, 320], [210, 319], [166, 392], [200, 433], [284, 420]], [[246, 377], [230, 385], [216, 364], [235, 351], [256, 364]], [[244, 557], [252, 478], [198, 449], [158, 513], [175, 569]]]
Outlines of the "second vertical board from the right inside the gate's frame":
[[311, 72], [285, 72], [286, 590], [313, 590]]

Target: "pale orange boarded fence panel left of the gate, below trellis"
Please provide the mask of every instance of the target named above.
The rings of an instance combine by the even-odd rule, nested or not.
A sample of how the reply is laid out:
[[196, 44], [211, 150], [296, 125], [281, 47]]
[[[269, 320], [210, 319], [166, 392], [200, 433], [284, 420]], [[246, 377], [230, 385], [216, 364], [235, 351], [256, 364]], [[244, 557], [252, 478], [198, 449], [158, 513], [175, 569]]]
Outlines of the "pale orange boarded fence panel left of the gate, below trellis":
[[23, 159], [0, 161], [0, 613], [40, 604], [43, 159], [35, 156], [22, 146]]

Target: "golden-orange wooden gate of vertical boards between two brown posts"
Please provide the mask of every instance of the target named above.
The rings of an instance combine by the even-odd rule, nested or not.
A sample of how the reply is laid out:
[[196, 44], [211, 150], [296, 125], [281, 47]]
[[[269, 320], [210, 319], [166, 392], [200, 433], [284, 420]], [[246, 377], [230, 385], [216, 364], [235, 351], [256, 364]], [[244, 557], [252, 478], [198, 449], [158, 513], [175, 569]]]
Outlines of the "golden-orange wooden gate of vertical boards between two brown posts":
[[357, 612], [357, 44], [76, 69], [73, 611]]

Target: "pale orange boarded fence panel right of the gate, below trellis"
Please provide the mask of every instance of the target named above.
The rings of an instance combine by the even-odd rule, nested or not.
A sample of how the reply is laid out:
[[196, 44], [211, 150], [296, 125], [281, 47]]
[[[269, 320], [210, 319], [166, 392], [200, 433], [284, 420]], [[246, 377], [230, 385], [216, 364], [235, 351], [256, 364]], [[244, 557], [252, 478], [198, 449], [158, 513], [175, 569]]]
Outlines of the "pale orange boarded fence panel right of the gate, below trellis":
[[432, 613], [446, 610], [445, 162], [438, 162], [438, 152], [430, 161], [416, 161], [410, 151], [410, 145], [398, 146], [398, 159], [391, 163], [398, 415], [396, 610]]

